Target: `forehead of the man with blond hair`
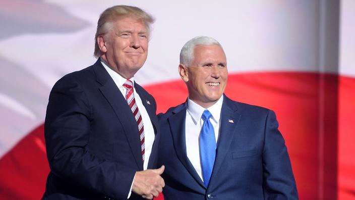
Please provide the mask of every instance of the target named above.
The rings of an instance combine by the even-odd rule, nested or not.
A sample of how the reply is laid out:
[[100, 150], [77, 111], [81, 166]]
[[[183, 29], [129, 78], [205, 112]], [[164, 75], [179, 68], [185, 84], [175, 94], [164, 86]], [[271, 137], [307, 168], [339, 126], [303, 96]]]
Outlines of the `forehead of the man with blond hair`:
[[113, 27], [119, 31], [147, 32], [147, 27], [142, 19], [132, 16], [120, 17], [113, 22]]

